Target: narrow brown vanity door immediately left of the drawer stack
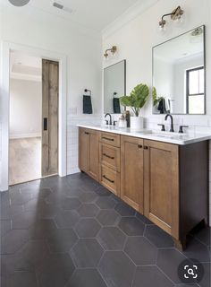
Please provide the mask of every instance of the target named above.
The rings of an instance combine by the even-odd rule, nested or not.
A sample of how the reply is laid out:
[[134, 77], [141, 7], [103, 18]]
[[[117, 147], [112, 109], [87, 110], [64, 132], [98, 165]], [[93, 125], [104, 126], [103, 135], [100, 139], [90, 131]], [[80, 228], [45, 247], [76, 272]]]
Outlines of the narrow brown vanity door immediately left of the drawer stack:
[[89, 130], [88, 174], [98, 180], [99, 176], [99, 132]]

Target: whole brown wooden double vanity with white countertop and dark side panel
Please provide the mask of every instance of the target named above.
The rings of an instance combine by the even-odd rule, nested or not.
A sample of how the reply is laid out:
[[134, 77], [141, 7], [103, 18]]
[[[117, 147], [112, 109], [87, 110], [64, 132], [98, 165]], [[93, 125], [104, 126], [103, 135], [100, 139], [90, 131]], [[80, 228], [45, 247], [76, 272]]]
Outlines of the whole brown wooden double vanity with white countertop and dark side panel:
[[209, 135], [79, 127], [79, 166], [170, 234], [178, 248], [207, 223]]

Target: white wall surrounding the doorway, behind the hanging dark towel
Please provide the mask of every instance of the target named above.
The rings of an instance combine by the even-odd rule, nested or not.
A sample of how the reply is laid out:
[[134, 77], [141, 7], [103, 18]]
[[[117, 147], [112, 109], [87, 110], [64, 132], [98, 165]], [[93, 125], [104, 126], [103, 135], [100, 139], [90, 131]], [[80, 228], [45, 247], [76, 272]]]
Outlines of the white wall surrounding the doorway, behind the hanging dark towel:
[[[67, 56], [67, 172], [78, 171], [75, 124], [83, 120], [97, 122], [101, 117], [101, 35], [55, 15], [35, 13], [33, 9], [26, 14], [24, 9], [11, 6], [0, 8], [1, 44], [4, 41], [40, 48], [46, 50], [46, 54], [53, 51]], [[82, 114], [85, 88], [92, 91], [94, 114], [89, 116]], [[0, 125], [0, 131], [1, 128]]]

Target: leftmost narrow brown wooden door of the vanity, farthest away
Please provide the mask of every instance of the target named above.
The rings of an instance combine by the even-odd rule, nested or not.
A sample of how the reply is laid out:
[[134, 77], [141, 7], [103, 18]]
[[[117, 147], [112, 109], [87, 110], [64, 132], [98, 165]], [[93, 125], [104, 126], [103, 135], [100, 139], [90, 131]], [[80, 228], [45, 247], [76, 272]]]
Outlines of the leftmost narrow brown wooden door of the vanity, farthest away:
[[87, 172], [89, 167], [89, 131], [79, 128], [79, 168]]

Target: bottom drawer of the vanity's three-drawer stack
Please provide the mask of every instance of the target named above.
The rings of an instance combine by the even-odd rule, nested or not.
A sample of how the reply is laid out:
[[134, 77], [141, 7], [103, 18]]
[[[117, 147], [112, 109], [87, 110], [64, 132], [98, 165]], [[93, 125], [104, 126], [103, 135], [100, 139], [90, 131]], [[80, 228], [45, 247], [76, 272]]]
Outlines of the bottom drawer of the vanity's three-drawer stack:
[[104, 165], [100, 167], [100, 183], [116, 196], [120, 196], [120, 173]]

